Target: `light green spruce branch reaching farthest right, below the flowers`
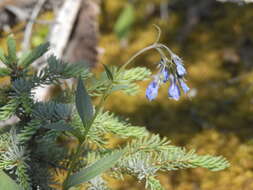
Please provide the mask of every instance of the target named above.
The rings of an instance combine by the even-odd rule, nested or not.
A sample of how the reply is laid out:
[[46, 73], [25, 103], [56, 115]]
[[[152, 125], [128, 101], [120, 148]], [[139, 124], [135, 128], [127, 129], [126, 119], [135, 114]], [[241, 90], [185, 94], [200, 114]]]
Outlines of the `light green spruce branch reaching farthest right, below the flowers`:
[[117, 163], [114, 172], [135, 176], [145, 181], [149, 189], [162, 189], [155, 179], [158, 171], [172, 171], [187, 168], [207, 168], [220, 171], [229, 167], [228, 161], [221, 156], [197, 155], [194, 150], [168, 145], [167, 139], [157, 135], [135, 139], [125, 147], [125, 156]]

